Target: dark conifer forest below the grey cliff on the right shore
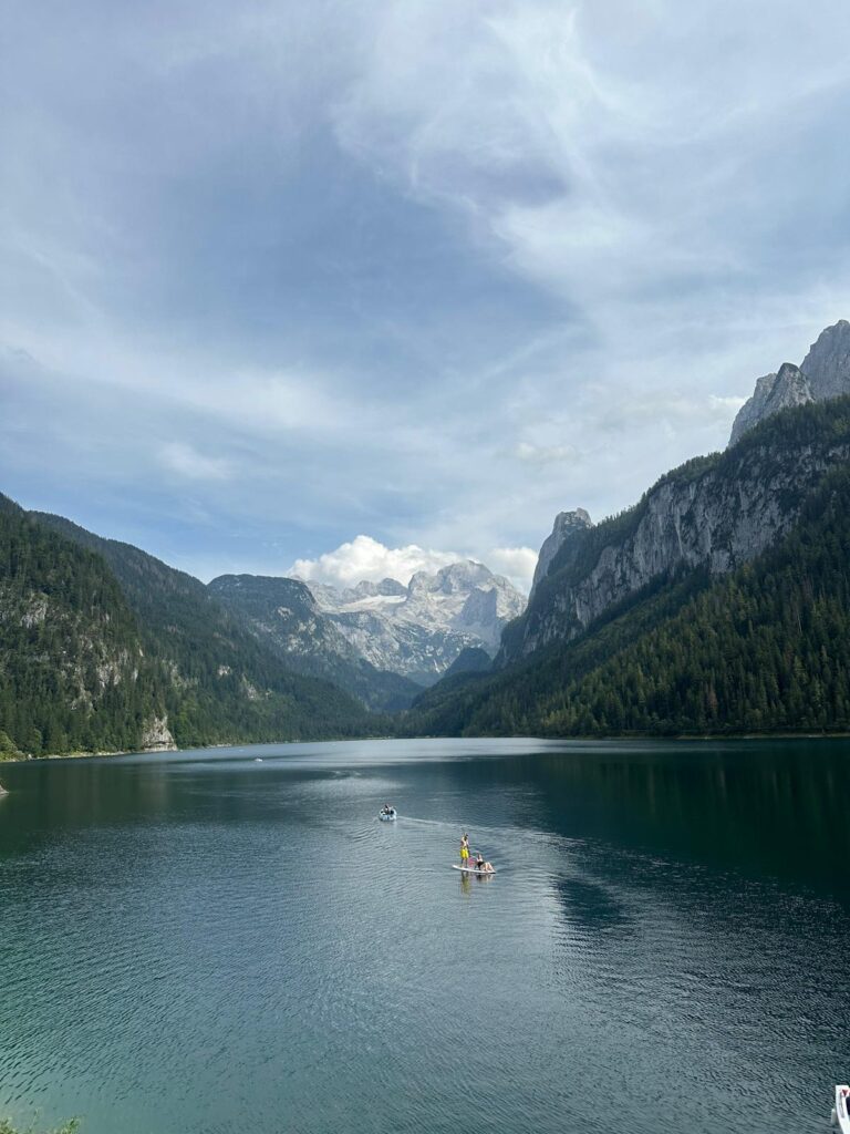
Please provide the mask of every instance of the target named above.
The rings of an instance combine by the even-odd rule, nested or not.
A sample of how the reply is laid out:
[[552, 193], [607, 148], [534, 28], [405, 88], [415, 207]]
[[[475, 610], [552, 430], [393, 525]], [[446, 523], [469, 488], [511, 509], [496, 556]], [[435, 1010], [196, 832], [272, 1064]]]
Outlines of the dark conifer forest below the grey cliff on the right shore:
[[706, 735], [850, 728], [850, 471], [732, 575], [665, 579], [567, 645], [424, 694], [413, 733]]

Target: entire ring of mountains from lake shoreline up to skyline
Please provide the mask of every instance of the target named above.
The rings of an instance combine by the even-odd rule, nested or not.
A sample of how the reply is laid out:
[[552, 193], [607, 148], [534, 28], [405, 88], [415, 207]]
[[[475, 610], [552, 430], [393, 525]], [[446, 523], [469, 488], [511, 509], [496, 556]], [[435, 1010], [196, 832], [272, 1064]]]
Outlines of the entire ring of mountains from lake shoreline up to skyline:
[[0, 756], [405, 735], [850, 728], [850, 323], [758, 379], [724, 452], [532, 593], [470, 560], [348, 590], [224, 575], [0, 497]]

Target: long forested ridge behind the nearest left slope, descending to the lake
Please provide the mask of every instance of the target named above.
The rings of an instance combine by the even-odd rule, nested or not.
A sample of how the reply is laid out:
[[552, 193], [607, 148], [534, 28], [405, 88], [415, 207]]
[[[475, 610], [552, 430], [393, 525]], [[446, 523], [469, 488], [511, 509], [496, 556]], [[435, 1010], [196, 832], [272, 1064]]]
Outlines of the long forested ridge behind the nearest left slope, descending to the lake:
[[[135, 648], [142, 659], [113, 682], [113, 696], [130, 700], [134, 684], [138, 685], [137, 696], [154, 705], [155, 739], [161, 746], [318, 739], [375, 730], [374, 719], [347, 694], [284, 668], [198, 579], [60, 516], [31, 513], [26, 522], [33, 539], [50, 536], [66, 549], [74, 548], [76, 555], [99, 564], [110, 579], [125, 623], [129, 617], [127, 649]], [[74, 602], [85, 603], [86, 586], [73, 585]], [[31, 587], [36, 595], [50, 594], [50, 579], [35, 575]], [[26, 655], [24, 650], [20, 657]], [[50, 659], [48, 668], [56, 663]], [[65, 701], [61, 693], [60, 701]], [[110, 713], [116, 721], [126, 716], [119, 708]], [[102, 746], [144, 747], [150, 739], [150, 733], [127, 725], [120, 739]]]

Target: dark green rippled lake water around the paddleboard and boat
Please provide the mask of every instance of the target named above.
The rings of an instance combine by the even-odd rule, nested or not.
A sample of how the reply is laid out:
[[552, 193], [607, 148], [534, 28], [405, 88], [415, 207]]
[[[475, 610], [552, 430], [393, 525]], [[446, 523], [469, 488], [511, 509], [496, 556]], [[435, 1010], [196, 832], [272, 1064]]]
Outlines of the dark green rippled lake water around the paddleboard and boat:
[[[790, 1134], [825, 1131], [850, 1077], [847, 742], [326, 744], [2, 778], [0, 1116]], [[465, 828], [498, 877], [449, 869]]]

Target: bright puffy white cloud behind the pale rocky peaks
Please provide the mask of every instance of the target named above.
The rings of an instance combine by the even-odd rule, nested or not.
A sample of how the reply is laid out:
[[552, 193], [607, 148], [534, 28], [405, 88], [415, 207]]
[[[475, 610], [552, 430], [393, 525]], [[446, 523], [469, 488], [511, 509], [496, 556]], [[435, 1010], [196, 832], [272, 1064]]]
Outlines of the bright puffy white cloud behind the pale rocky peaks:
[[409, 543], [405, 548], [388, 548], [371, 535], [358, 535], [317, 559], [296, 559], [288, 574], [306, 582], [354, 586], [362, 579], [380, 583], [394, 578], [407, 585], [417, 570], [435, 572], [457, 562], [462, 556], [452, 551], [433, 551]]

